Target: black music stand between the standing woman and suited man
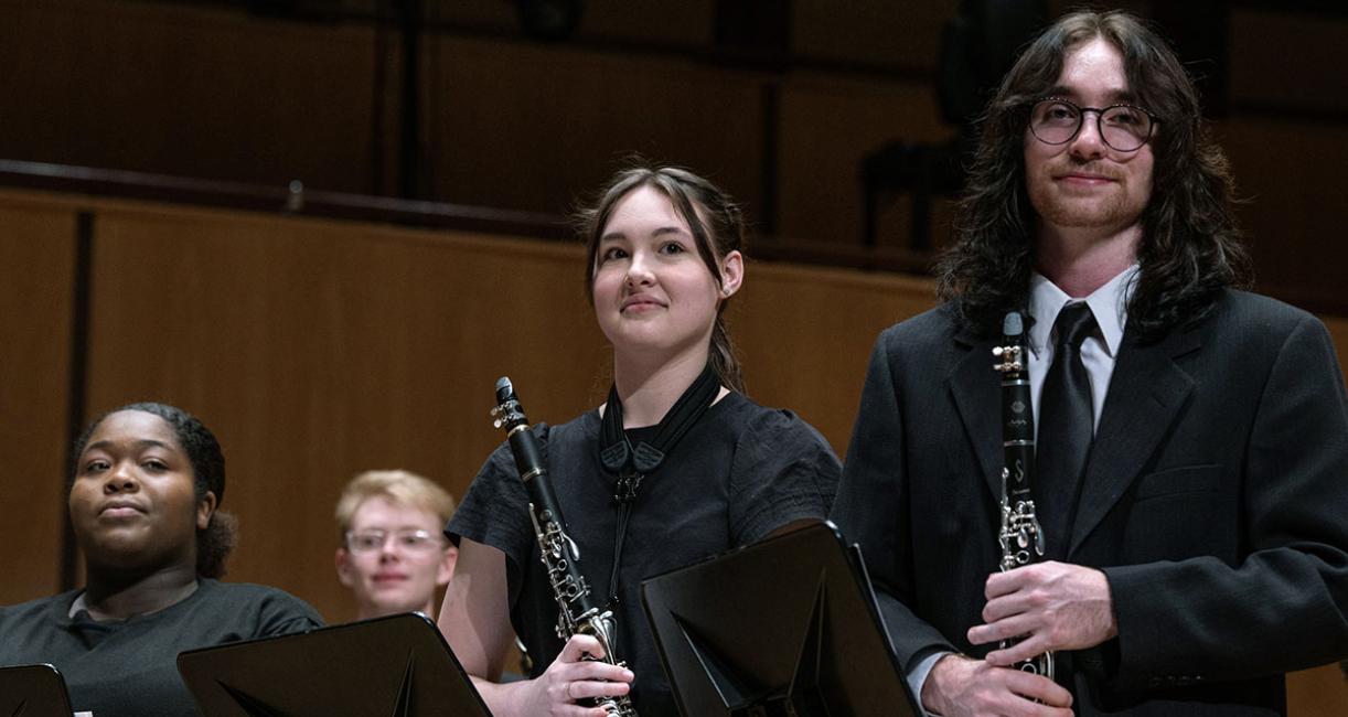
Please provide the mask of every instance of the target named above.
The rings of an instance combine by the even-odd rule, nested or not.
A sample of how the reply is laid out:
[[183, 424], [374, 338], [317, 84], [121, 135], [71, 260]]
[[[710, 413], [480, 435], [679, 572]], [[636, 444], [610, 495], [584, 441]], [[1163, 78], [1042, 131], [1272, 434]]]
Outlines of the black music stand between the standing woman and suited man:
[[860, 553], [820, 522], [642, 582], [686, 716], [922, 714]]

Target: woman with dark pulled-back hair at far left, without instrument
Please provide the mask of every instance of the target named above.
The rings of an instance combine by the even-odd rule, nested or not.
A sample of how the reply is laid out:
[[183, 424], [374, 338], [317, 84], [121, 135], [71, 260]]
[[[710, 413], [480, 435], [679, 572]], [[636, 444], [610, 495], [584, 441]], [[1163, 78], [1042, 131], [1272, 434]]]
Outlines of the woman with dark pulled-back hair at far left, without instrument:
[[0, 608], [0, 664], [51, 663], [96, 717], [195, 714], [178, 652], [319, 627], [301, 600], [224, 584], [235, 542], [225, 458], [197, 418], [133, 403], [74, 449], [70, 523], [85, 588]]

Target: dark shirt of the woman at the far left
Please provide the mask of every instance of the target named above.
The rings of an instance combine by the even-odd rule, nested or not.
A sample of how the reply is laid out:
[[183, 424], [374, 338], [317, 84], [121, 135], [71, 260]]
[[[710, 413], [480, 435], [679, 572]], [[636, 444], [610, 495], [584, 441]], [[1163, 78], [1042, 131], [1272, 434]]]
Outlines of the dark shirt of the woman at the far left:
[[194, 716], [178, 652], [322, 625], [306, 602], [262, 585], [202, 578], [162, 611], [105, 623], [70, 616], [81, 592], [0, 608], [0, 666], [51, 663], [70, 706], [93, 717]]

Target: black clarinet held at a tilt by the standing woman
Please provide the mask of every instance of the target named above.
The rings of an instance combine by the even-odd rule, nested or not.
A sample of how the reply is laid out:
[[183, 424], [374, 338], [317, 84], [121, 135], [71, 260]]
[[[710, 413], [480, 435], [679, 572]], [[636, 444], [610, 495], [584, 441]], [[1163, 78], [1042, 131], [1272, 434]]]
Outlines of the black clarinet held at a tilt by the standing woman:
[[[581, 574], [580, 547], [566, 532], [557, 493], [553, 491], [543, 451], [530, 430], [528, 418], [515, 395], [508, 377], [496, 381], [496, 407], [492, 408], [497, 429], [506, 429], [519, 480], [528, 492], [528, 512], [534, 535], [547, 573], [547, 581], [557, 600], [557, 636], [563, 642], [572, 635], [590, 635], [604, 647], [604, 662], [623, 666], [613, 650], [617, 624], [613, 612], [594, 602], [590, 588]], [[638, 717], [627, 695], [601, 697], [589, 701], [613, 717]]]

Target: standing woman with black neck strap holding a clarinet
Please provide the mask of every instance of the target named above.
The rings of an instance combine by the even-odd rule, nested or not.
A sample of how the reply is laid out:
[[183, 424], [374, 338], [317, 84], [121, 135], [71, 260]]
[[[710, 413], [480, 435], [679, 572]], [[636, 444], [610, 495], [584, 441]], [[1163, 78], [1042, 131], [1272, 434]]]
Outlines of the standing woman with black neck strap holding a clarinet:
[[[743, 394], [721, 313], [744, 279], [744, 222], [721, 190], [679, 168], [631, 168], [581, 220], [585, 286], [613, 346], [613, 387], [599, 410], [535, 433], [581, 570], [594, 601], [615, 611], [613, 651], [630, 670], [582, 659], [601, 656], [590, 636], [555, 636], [558, 608], [528, 499], [501, 446], [446, 528], [460, 557], [441, 612], [445, 636], [497, 717], [601, 716], [582, 701], [624, 694], [642, 717], [677, 714], [640, 581], [825, 516], [840, 474], [814, 429]], [[662, 429], [678, 423], [690, 427], [665, 443], [678, 431]], [[627, 451], [605, 451], [624, 442]], [[665, 458], [627, 484], [635, 497], [623, 508], [617, 477], [632, 466], [612, 458], [631, 461], [642, 443]], [[532, 679], [496, 683], [515, 631]]]

